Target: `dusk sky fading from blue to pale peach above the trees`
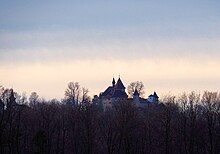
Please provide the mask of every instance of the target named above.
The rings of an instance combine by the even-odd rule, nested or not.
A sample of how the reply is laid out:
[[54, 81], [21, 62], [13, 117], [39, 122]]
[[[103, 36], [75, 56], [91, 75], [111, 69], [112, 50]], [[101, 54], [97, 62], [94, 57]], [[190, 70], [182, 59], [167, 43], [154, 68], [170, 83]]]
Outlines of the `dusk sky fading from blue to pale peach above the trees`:
[[145, 97], [219, 91], [219, 0], [0, 0], [0, 85], [93, 96], [121, 77]]

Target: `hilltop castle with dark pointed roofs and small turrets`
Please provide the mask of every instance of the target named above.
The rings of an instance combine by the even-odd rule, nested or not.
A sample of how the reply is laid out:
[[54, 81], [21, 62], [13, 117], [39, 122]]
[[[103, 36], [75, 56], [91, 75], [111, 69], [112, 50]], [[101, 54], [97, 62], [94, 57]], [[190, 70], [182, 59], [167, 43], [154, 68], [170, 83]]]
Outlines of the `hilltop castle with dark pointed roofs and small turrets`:
[[133, 98], [128, 98], [125, 91], [125, 86], [119, 77], [117, 82], [115, 79], [112, 80], [112, 85], [109, 86], [104, 92], [100, 93], [99, 101], [103, 105], [103, 109], [111, 108], [112, 105], [117, 101], [130, 100], [137, 107], [144, 107], [149, 103], [158, 103], [158, 96], [156, 92], [148, 96], [147, 99], [141, 98], [137, 89], [134, 91]]

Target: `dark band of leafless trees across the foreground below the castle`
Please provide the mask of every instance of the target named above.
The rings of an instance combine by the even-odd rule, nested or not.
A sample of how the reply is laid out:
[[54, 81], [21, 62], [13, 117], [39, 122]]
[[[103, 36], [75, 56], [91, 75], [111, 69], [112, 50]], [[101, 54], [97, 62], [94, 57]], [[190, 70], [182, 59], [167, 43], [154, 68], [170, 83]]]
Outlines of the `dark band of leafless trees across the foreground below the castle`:
[[216, 92], [167, 96], [144, 108], [121, 100], [105, 112], [89, 99], [74, 105], [71, 99], [34, 99], [22, 105], [12, 95], [1, 97], [9, 105], [0, 111], [0, 153], [220, 153]]

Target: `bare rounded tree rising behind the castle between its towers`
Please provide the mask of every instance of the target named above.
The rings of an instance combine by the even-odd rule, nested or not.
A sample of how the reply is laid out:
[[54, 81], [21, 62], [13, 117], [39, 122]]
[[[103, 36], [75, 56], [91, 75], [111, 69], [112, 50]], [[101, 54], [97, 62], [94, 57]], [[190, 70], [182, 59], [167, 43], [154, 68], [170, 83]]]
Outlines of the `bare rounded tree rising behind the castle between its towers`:
[[133, 94], [136, 89], [137, 89], [139, 95], [141, 97], [143, 97], [145, 92], [144, 92], [144, 84], [141, 81], [131, 82], [128, 85], [127, 91], [128, 91], [129, 97], [133, 97]]

